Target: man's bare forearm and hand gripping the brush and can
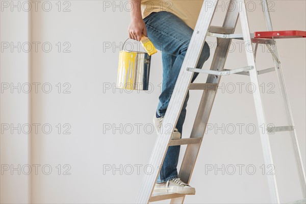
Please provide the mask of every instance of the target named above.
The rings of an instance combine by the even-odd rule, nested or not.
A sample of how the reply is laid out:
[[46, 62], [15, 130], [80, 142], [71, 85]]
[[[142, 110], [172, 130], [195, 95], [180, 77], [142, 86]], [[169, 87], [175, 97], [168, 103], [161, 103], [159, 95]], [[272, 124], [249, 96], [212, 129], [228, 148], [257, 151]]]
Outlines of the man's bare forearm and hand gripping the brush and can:
[[147, 37], [145, 23], [141, 16], [141, 0], [130, 0], [133, 4], [131, 11], [131, 23], [129, 26], [129, 37], [134, 40], [140, 41], [141, 35]]

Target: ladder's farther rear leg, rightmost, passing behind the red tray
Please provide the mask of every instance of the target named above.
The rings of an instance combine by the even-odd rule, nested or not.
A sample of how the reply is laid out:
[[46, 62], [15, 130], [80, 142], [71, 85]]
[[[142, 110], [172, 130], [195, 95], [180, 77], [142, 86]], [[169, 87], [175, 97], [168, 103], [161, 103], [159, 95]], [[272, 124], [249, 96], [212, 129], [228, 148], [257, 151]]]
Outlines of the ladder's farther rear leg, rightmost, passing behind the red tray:
[[[262, 4], [263, 4], [263, 7], [264, 7], [264, 16], [265, 16], [267, 29], [268, 29], [268, 31], [273, 31], [267, 0], [262, 0]], [[285, 106], [286, 116], [287, 116], [287, 122], [288, 122], [288, 125], [293, 126], [293, 131], [290, 131], [290, 136], [291, 136], [291, 142], [292, 142], [293, 149], [294, 149], [294, 155], [295, 155], [296, 166], [297, 166], [297, 170], [298, 170], [298, 174], [299, 174], [299, 182], [300, 182], [300, 186], [301, 186], [301, 190], [302, 190], [302, 195], [303, 195], [303, 198], [305, 198], [306, 197], [305, 170], [304, 170], [304, 166], [303, 166], [303, 162], [302, 162], [302, 158], [301, 158], [301, 153], [300, 153], [300, 149], [299, 149], [299, 145], [298, 145], [296, 130], [294, 128], [293, 116], [292, 116], [292, 111], [291, 111], [291, 107], [290, 107], [290, 103], [289, 103], [289, 98], [288, 98], [288, 94], [287, 94], [286, 85], [285, 85], [284, 75], [283, 75], [281, 63], [279, 63], [280, 60], [279, 60], [279, 56], [278, 56], [278, 52], [277, 52], [277, 46], [276, 46], [274, 40], [272, 40], [271, 43], [272, 43], [271, 44], [272, 46], [270, 46], [271, 52], [278, 59], [278, 61], [277, 61], [273, 58], [273, 61], [274, 61], [274, 68], [275, 68], [275, 72], [276, 72], [277, 80], [278, 80], [278, 84], [279, 84], [279, 89], [281, 91], [281, 95], [282, 95], [282, 98], [283, 98], [283, 101], [284, 101], [284, 106]]]

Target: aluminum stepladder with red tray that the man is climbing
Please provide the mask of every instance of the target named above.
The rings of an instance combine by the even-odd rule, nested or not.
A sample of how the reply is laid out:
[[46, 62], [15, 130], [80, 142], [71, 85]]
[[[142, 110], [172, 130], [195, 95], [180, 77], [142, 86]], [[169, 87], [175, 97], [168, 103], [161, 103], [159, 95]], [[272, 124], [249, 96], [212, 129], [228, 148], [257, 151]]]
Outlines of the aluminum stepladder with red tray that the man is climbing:
[[[192, 35], [185, 60], [183, 62], [179, 77], [174, 87], [174, 91], [171, 96], [171, 100], [165, 114], [162, 130], [166, 130], [166, 124], [173, 124], [172, 129], [169, 132], [173, 132], [176, 125], [177, 119], [179, 118], [182, 106], [187, 95], [188, 90], [203, 90], [203, 94], [200, 100], [199, 108], [195, 117], [192, 132], [190, 138], [184, 138], [179, 140], [171, 140], [170, 135], [167, 133], [161, 133], [158, 135], [154, 148], [152, 150], [149, 164], [154, 167], [151, 174], [145, 174], [142, 180], [140, 191], [138, 193], [136, 203], [149, 203], [159, 200], [171, 199], [171, 203], [183, 203], [185, 196], [184, 194], [176, 193], [164, 193], [164, 194], [154, 194], [154, 186], [159, 174], [159, 167], [164, 161], [166, 151], [169, 146], [173, 145], [186, 145], [185, 156], [180, 168], [179, 178], [189, 184], [191, 175], [195, 166], [196, 158], [199, 152], [201, 141], [203, 135], [205, 134], [206, 125], [212, 110], [214, 103], [216, 90], [220, 82], [221, 75], [228, 75], [232, 73], [249, 75], [250, 82], [253, 83], [256, 90], [253, 93], [254, 104], [256, 107], [257, 121], [259, 126], [261, 124], [267, 124], [265, 119], [264, 107], [262, 103], [262, 97], [260, 93], [260, 84], [258, 80], [258, 75], [270, 71], [275, 71], [279, 83], [279, 88], [281, 90], [282, 98], [284, 100], [286, 120], [289, 124], [288, 126], [276, 126], [273, 130], [266, 129], [266, 131], [260, 131], [260, 138], [263, 148], [265, 165], [273, 165], [271, 148], [269, 142], [269, 134], [271, 132], [278, 131], [288, 131], [291, 136], [294, 156], [296, 158], [296, 165], [299, 173], [300, 187], [302, 190], [303, 198], [305, 195], [305, 173], [301, 161], [298, 141], [296, 137], [296, 132], [294, 129], [294, 123], [292, 118], [292, 113], [289, 105], [289, 100], [287, 96], [287, 91], [284, 83], [283, 73], [281, 64], [279, 62], [279, 57], [277, 54], [277, 48], [273, 38], [281, 38], [281, 32], [272, 32], [272, 24], [270, 19], [270, 14], [268, 11], [267, 0], [262, 0], [264, 9], [264, 16], [266, 20], [266, 25], [268, 32], [255, 33], [255, 35], [250, 34], [246, 6], [244, 0], [231, 0], [227, 9], [227, 13], [223, 22], [222, 27], [211, 26], [211, 21], [215, 13], [218, 0], [205, 1], [201, 8], [194, 33]], [[206, 5], [210, 4], [209, 7]], [[239, 17], [240, 16], [240, 17]], [[242, 34], [234, 34], [236, 23], [238, 17], [241, 21]], [[291, 32], [292, 33], [292, 32]], [[288, 32], [287, 32], [288, 34]], [[265, 38], [261, 38], [261, 35], [267, 35]], [[201, 49], [205, 42], [206, 36], [217, 37], [217, 48], [212, 61], [210, 70], [205, 69], [195, 69]], [[285, 36], [286, 37], [286, 36]], [[288, 37], [288, 36], [287, 36]], [[290, 37], [290, 35], [289, 35]], [[297, 36], [294, 33], [291, 37], [305, 37]], [[269, 39], [270, 38], [270, 39]], [[225, 60], [227, 57], [227, 50], [230, 46], [232, 39], [241, 39], [244, 41], [247, 57], [246, 67], [241, 67], [237, 69], [224, 69]], [[256, 44], [256, 47], [252, 47], [252, 43]], [[264, 43], [267, 45], [274, 60], [274, 67], [267, 68], [264, 70], [257, 71], [255, 64], [256, 50], [259, 43]], [[218, 48], [222, 45], [221, 48]], [[250, 52], [251, 50], [251, 52]], [[204, 84], [191, 83], [191, 79], [194, 72], [207, 73], [207, 82]], [[169, 128], [168, 128], [169, 129]], [[168, 130], [167, 129], [167, 130]], [[267, 176], [271, 202], [279, 203], [279, 196], [277, 191], [275, 175]]]

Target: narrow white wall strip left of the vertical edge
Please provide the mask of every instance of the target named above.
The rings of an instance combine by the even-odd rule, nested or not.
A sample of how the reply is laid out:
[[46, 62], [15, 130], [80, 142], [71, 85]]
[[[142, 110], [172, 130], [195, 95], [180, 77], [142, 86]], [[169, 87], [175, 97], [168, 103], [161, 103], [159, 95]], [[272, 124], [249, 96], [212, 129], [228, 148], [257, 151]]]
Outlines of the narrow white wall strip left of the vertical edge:
[[[5, 12], [2, 9], [6, 4], [4, 1], [0, 4], [0, 202], [28, 203], [30, 176], [22, 173], [22, 170], [27, 173], [26, 165], [30, 162], [30, 135], [25, 133], [28, 131], [26, 124], [30, 123], [30, 94], [22, 92], [21, 87], [23, 86], [25, 91], [28, 90], [29, 53], [23, 52], [21, 45], [25, 43], [23, 50], [28, 50], [26, 45], [29, 41], [29, 13], [17, 10]], [[15, 47], [12, 48], [12, 45]], [[22, 126], [24, 131], [21, 131]]]

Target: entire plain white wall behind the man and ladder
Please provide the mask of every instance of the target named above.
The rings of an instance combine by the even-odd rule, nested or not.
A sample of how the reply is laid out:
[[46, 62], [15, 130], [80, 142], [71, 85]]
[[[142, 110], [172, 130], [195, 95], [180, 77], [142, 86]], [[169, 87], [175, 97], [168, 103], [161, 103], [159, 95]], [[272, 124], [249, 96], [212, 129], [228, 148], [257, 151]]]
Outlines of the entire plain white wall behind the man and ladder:
[[[31, 92], [30, 123], [41, 124], [38, 133], [32, 132], [30, 140], [27, 135], [11, 135], [10, 132], [1, 136], [1, 164], [37, 164], [40, 165], [38, 174], [31, 173], [30, 183], [27, 176], [6, 173], [1, 175], [1, 202], [27, 202], [28, 191], [25, 186], [28, 184], [31, 187], [31, 203], [135, 201], [144, 175], [144, 166], [156, 139], [155, 132], [148, 132], [160, 94], [162, 63], [160, 53], [152, 56], [150, 83], [154, 85], [153, 91], [129, 93], [113, 89], [119, 47], [127, 38], [126, 31], [130, 22], [129, 12], [124, 10], [125, 2], [67, 1], [65, 4], [61, 2], [60, 11], [57, 2], [50, 2], [52, 10], [49, 12], [43, 11], [39, 5], [38, 11], [32, 10], [31, 13], [32, 35], [28, 41], [41, 44], [37, 53], [31, 53], [30, 72], [25, 68], [28, 63], [27, 53], [21, 52], [23, 57], [15, 52], [1, 53], [2, 83], [27, 82], [28, 75], [31, 75], [31, 83], [45, 84], [43, 90], [39, 86], [37, 93]], [[264, 31], [266, 28], [260, 2], [253, 3], [256, 9], [249, 12], [251, 31]], [[122, 6], [115, 7], [114, 4]], [[306, 30], [304, 1], [274, 1], [271, 6], [274, 10], [271, 12], [274, 30]], [[66, 7], [70, 12], [63, 12]], [[44, 8], [48, 8], [47, 5]], [[252, 7], [249, 9], [252, 10]], [[22, 32], [17, 32], [17, 27], [12, 26], [15, 25], [14, 22], [17, 23], [17, 19], [18, 23], [21, 20], [26, 21], [27, 16], [28, 12], [11, 12], [5, 9], [1, 13], [1, 41], [27, 41], [27, 27]], [[221, 25], [223, 16], [224, 12], [220, 7], [213, 24]], [[240, 28], [237, 29], [239, 31]], [[208, 38], [207, 41], [214, 42], [215, 39]], [[41, 48], [46, 42], [52, 45], [52, 50], [48, 53]], [[60, 52], [58, 42], [61, 43]], [[228, 55], [226, 67], [245, 66], [243, 50], [239, 51], [236, 41], [233, 46], [236, 49]], [[305, 39], [280, 39], [277, 40], [277, 46], [305, 167]], [[64, 51], [63, 48], [67, 49]], [[213, 50], [214, 48], [211, 53]], [[210, 67], [211, 60], [212, 56], [205, 68]], [[267, 49], [259, 50], [257, 64], [259, 69], [273, 65]], [[197, 82], [205, 80], [206, 76], [200, 75]], [[275, 74], [271, 72], [260, 75], [260, 81], [265, 83], [262, 95], [268, 122], [286, 125], [283, 124], [283, 115], [279, 111], [281, 105]], [[233, 123], [237, 130], [234, 134], [228, 131], [222, 134], [220, 130], [215, 134], [215, 129], [208, 131], [191, 180], [191, 185], [196, 188], [196, 195], [187, 196], [185, 202], [267, 203], [270, 199], [266, 175], [262, 175], [260, 168], [264, 160], [258, 127], [254, 134], [247, 134], [245, 129], [247, 124], [256, 124], [252, 94], [245, 89], [249, 79], [242, 75], [230, 75], [223, 77], [221, 83], [228, 89], [230, 83], [234, 83], [236, 89], [237, 83], [245, 84], [241, 93], [238, 90], [230, 93], [226, 89], [222, 93], [222, 89], [219, 89], [209, 123], [217, 123], [218, 126]], [[267, 92], [270, 88], [267, 83], [276, 84], [273, 88], [275, 94]], [[50, 93], [45, 93], [48, 91], [47, 85], [52, 87]], [[1, 94], [1, 123], [27, 123], [28, 97], [27, 94]], [[199, 99], [200, 92], [191, 92], [183, 137], [188, 137], [191, 132]], [[138, 132], [139, 123], [141, 126]], [[242, 133], [238, 132], [237, 123], [245, 124]], [[43, 124], [52, 127], [50, 134], [42, 132]], [[58, 124], [61, 126], [60, 133]], [[122, 125], [119, 128], [122, 133], [114, 128], [107, 130], [109, 124], [112, 127]], [[129, 134], [131, 124], [134, 131]], [[145, 125], [147, 129], [144, 129]], [[68, 132], [71, 134], [64, 134], [63, 131], [69, 127]], [[47, 127], [45, 131], [48, 131]], [[27, 160], [28, 141], [31, 143], [30, 161]], [[300, 199], [301, 192], [288, 136], [271, 136], [271, 146], [281, 201]], [[182, 147], [181, 151], [184, 149]], [[181, 159], [182, 157], [183, 153]], [[224, 167], [237, 167], [239, 164], [245, 166], [241, 175], [238, 167], [233, 175], [226, 172], [222, 175], [221, 171], [217, 174], [213, 171], [205, 173], [208, 165], [218, 165], [220, 168], [222, 164]], [[49, 175], [45, 175], [47, 166], [42, 171], [43, 165], [52, 167]], [[120, 168], [120, 165], [122, 174], [120, 170], [115, 173], [104, 172], [106, 167]], [[129, 165], [134, 167], [134, 172], [130, 175]], [[139, 175], [135, 165], [141, 165]], [[256, 173], [249, 175], [245, 169], [247, 165], [254, 165]], [[64, 175], [65, 170], [70, 175]]]

